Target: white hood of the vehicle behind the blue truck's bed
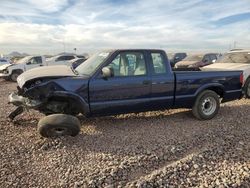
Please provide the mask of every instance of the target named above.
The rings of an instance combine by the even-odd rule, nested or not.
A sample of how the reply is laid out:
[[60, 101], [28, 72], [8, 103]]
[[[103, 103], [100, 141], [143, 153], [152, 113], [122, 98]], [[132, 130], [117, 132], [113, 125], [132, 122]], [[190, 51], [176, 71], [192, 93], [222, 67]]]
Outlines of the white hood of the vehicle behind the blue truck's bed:
[[205, 67], [202, 67], [201, 70], [204, 71], [220, 71], [220, 70], [246, 70], [250, 68], [250, 64], [243, 63], [214, 63]]

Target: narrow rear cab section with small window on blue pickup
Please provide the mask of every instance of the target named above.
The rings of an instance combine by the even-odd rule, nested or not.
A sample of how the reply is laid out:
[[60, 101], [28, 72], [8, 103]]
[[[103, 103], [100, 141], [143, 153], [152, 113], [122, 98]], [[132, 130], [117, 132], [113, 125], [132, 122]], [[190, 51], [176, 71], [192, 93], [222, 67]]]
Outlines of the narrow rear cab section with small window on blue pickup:
[[161, 51], [152, 51], [149, 59], [152, 62], [151, 108], [170, 108], [174, 102], [175, 79], [169, 63], [166, 62], [166, 55]]

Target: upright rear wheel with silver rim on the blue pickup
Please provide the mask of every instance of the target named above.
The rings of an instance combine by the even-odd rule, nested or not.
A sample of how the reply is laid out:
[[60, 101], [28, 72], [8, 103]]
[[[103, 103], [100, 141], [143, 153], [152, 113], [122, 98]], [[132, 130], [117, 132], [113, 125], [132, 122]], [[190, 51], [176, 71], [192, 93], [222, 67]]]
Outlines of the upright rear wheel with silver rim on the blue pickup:
[[220, 109], [220, 98], [211, 90], [201, 92], [192, 108], [193, 115], [200, 120], [212, 119]]

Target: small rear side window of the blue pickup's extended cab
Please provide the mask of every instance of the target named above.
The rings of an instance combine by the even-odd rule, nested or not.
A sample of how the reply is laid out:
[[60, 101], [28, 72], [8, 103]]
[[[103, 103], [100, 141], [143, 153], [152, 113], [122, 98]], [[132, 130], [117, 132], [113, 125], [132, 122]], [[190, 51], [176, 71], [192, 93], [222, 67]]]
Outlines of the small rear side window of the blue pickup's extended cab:
[[151, 53], [153, 68], [155, 74], [166, 73], [166, 64], [161, 53]]

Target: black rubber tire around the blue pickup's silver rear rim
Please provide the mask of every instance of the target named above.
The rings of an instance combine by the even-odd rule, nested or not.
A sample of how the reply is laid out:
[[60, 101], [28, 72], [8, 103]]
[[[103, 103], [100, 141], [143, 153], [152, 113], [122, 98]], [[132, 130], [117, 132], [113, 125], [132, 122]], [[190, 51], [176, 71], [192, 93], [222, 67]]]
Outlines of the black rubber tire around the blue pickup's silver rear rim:
[[[204, 98], [208, 96], [213, 97], [216, 100], [216, 104], [217, 104], [215, 112], [209, 116], [203, 114], [201, 110], [201, 102]], [[219, 109], [220, 109], [220, 98], [218, 94], [211, 90], [204, 90], [196, 97], [194, 106], [192, 108], [192, 112], [193, 112], [193, 115], [199, 120], [209, 120], [217, 115]]]

